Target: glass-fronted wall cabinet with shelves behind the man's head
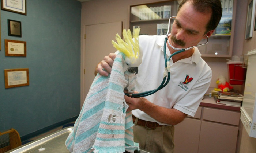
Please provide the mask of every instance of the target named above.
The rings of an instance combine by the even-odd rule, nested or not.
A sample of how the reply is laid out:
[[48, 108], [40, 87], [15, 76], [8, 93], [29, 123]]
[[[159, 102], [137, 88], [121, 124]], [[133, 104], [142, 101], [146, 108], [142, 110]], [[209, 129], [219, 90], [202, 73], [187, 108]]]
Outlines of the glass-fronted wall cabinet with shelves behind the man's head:
[[[130, 29], [140, 27], [142, 35], [166, 35], [168, 20], [177, 15], [181, 1], [171, 0], [158, 3], [138, 4], [130, 6]], [[210, 36], [206, 45], [200, 46], [202, 57], [231, 57], [234, 39], [234, 23], [236, 0], [221, 0], [222, 19], [214, 34]], [[165, 13], [170, 9], [170, 14]], [[171, 27], [171, 26], [170, 26]], [[159, 30], [160, 29], [160, 30]], [[199, 44], [205, 43], [202, 40]]]

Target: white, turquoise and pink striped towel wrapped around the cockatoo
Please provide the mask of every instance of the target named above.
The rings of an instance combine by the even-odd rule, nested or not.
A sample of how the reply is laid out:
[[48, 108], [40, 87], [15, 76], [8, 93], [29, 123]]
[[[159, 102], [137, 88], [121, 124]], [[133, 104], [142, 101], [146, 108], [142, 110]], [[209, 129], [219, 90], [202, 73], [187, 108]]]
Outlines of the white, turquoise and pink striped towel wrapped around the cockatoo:
[[114, 60], [111, 75], [97, 74], [82, 110], [66, 140], [72, 153], [123, 153], [139, 150], [133, 142], [131, 111], [126, 112], [124, 89], [134, 90], [136, 75], [123, 72], [125, 54]]

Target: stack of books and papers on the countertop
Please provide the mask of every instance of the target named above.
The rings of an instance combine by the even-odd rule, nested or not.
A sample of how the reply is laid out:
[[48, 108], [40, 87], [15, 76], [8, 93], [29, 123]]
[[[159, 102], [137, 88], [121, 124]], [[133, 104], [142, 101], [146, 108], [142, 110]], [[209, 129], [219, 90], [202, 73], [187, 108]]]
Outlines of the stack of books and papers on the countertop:
[[243, 95], [238, 91], [233, 90], [232, 92], [218, 91], [218, 96], [214, 96], [216, 103], [231, 106], [241, 106], [243, 101]]

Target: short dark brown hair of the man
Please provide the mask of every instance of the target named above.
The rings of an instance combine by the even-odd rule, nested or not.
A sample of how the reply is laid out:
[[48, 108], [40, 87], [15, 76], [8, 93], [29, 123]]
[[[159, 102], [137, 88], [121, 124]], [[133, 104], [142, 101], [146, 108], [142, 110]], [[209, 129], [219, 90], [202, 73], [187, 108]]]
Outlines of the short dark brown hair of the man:
[[[178, 11], [180, 11], [182, 5], [185, 4], [187, 1], [191, 2], [192, 6], [196, 9], [196, 11], [201, 13], [211, 13], [211, 19], [206, 25], [206, 33], [210, 30], [214, 30], [218, 26], [222, 16], [220, 0], [183, 0], [180, 3]], [[209, 8], [211, 10], [209, 10]]]

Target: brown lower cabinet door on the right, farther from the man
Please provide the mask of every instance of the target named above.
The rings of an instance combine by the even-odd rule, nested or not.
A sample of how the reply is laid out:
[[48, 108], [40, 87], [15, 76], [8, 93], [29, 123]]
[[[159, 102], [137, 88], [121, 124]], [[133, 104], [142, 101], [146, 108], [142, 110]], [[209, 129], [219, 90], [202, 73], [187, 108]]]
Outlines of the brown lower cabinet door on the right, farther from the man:
[[235, 153], [238, 127], [201, 123], [198, 153]]

